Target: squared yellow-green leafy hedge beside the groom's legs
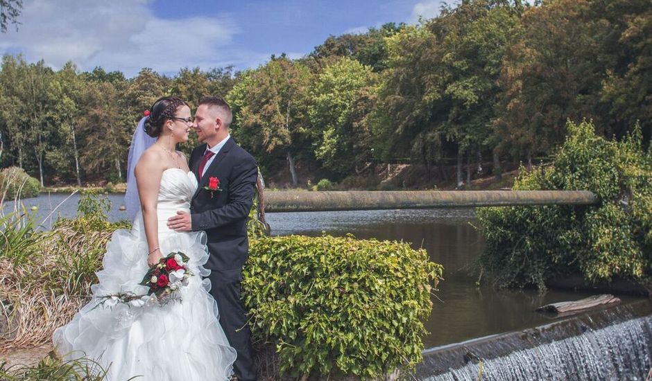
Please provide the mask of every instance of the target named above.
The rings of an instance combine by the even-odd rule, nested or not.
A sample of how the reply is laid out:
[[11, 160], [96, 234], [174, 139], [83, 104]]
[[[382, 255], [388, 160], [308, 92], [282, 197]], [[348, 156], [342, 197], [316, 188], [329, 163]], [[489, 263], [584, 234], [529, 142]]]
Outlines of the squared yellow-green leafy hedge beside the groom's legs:
[[250, 244], [243, 301], [280, 371], [373, 378], [421, 360], [442, 267], [404, 242], [284, 236]]

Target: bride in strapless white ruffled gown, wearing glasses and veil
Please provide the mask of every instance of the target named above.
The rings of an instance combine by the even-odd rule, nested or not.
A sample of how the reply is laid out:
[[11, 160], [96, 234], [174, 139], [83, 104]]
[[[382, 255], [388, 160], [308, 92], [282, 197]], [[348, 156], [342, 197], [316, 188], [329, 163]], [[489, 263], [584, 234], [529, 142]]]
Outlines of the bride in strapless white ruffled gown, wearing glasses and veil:
[[[147, 114], [147, 112], [146, 112]], [[108, 380], [228, 380], [236, 351], [218, 323], [218, 308], [203, 277], [209, 270], [203, 232], [177, 232], [167, 220], [189, 210], [196, 177], [175, 145], [188, 140], [192, 118], [180, 98], [164, 97], [149, 110], [144, 131], [156, 139], [135, 166], [141, 211], [130, 231], [118, 230], [108, 242], [92, 299], [66, 326], [55, 330], [56, 351], [65, 359], [84, 355], [108, 369]], [[138, 137], [141, 136], [141, 137]], [[134, 134], [132, 150], [143, 139]], [[130, 155], [132, 152], [130, 152]], [[135, 193], [129, 192], [127, 198]], [[133, 208], [128, 202], [127, 206]], [[118, 292], [146, 294], [139, 285], [148, 267], [173, 251], [189, 257], [194, 276], [180, 289], [182, 301], [164, 305], [101, 304]]]

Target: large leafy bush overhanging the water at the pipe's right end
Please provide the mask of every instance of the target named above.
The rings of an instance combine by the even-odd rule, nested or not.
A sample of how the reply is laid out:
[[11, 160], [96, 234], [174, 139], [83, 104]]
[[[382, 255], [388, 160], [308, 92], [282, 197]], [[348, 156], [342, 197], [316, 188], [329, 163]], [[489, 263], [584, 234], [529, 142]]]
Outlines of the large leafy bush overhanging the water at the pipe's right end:
[[486, 236], [483, 268], [498, 285], [545, 288], [550, 278], [581, 273], [587, 281], [652, 279], [652, 153], [636, 127], [608, 141], [584, 121], [550, 166], [521, 170], [515, 190], [590, 190], [594, 206], [518, 206], [477, 211]]

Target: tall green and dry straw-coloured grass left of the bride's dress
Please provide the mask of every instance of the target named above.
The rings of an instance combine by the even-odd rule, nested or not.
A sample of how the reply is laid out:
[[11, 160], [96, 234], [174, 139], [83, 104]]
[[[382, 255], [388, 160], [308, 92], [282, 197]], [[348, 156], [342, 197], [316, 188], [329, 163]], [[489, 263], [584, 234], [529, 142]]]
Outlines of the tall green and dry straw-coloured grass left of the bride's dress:
[[[78, 218], [35, 229], [27, 213], [0, 216], [0, 348], [51, 342], [85, 303], [113, 231], [128, 224], [106, 221], [108, 200], [82, 195]], [[1, 327], [5, 326], [2, 330]]]

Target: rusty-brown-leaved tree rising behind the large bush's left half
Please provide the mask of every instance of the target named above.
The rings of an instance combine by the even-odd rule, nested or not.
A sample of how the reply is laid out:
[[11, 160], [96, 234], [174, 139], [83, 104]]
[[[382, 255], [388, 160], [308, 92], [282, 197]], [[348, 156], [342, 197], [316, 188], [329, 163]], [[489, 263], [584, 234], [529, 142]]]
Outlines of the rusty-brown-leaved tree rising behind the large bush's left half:
[[599, 94], [613, 55], [613, 33], [589, 0], [554, 0], [525, 10], [506, 51], [495, 121], [514, 157], [547, 154], [561, 143], [566, 123], [601, 121]]

